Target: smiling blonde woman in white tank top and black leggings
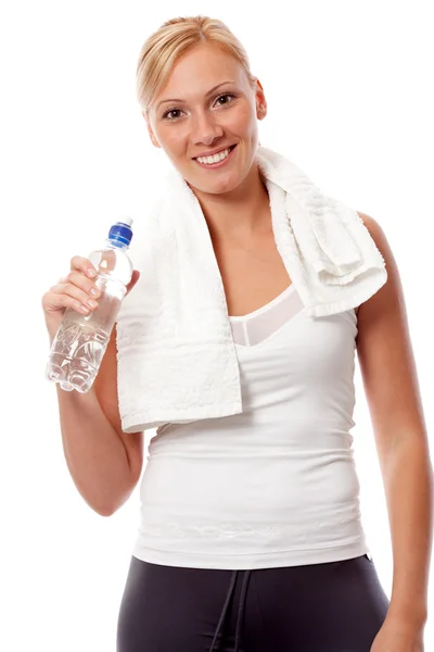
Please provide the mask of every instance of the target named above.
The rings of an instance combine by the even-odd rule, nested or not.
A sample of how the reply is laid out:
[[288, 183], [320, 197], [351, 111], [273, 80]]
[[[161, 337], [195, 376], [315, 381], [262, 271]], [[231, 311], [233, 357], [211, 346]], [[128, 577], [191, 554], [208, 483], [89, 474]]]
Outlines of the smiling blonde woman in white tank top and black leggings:
[[[143, 528], [120, 605], [118, 652], [420, 652], [431, 467], [398, 271], [383, 231], [360, 213], [387, 283], [354, 311], [334, 315], [333, 331], [327, 319], [311, 330], [276, 247], [256, 162], [257, 121], [267, 102], [241, 43], [219, 21], [169, 21], [143, 46], [138, 91], [153, 145], [186, 179], [206, 220], [251, 412], [247, 421], [243, 414], [167, 424], [150, 443]], [[88, 266], [73, 259], [69, 283], [44, 296], [50, 334], [66, 305], [79, 310], [88, 298]], [[128, 291], [137, 280], [136, 272]], [[267, 323], [258, 319], [264, 315]], [[256, 333], [256, 344], [246, 333]], [[332, 347], [329, 333], [339, 336], [333, 367], [331, 355], [320, 358], [320, 348]], [[367, 554], [345, 448], [354, 425], [355, 347], [391, 515], [391, 601]], [[309, 410], [306, 396], [320, 373], [328, 375]], [[69, 468], [102, 514], [127, 500], [142, 471], [143, 434], [123, 432], [116, 377], [114, 330], [92, 391], [74, 398], [59, 390]], [[321, 453], [321, 441], [331, 446], [336, 437], [336, 455], [324, 454], [324, 444]], [[103, 453], [92, 477], [84, 462], [91, 446]], [[108, 477], [117, 481], [110, 485]], [[182, 553], [174, 543], [179, 536], [188, 541]]]

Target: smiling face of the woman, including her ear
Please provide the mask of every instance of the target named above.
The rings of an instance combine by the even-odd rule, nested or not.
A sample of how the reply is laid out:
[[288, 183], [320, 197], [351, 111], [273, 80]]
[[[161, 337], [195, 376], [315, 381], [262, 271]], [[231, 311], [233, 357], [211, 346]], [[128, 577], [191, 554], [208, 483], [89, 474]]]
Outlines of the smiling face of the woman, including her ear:
[[[152, 142], [190, 186], [221, 193], [233, 190], [251, 172], [257, 121], [266, 113], [260, 83], [252, 86], [234, 57], [213, 43], [201, 43], [174, 66], [146, 123]], [[212, 164], [202, 159], [215, 152], [226, 158]]]

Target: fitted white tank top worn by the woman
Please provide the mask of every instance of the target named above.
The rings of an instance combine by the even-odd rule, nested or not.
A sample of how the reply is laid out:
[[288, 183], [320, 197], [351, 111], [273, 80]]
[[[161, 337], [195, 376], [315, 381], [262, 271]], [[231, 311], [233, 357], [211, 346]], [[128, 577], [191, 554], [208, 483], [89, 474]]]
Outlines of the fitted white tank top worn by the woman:
[[247, 569], [368, 553], [349, 435], [355, 311], [309, 317], [290, 286], [230, 321], [243, 412], [157, 428], [133, 555]]

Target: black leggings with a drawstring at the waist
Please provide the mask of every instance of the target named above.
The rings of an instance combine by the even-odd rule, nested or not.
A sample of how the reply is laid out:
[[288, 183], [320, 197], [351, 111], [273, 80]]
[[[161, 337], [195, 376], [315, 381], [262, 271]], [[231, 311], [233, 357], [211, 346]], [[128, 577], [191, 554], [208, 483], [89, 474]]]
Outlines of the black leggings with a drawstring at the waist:
[[132, 556], [117, 652], [369, 652], [390, 601], [368, 555], [222, 570]]

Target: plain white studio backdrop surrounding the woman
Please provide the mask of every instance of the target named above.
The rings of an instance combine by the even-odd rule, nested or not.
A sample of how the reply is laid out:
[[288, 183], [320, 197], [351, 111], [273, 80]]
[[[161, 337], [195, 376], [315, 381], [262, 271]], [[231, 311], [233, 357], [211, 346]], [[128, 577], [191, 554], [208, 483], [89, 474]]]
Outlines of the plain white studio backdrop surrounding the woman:
[[[1, 650], [115, 652], [139, 486], [110, 518], [93, 513], [75, 488], [55, 387], [44, 379], [49, 338], [40, 302], [73, 255], [102, 246], [124, 215], [140, 223], [158, 192], [167, 163], [149, 140], [135, 73], [143, 40], [164, 21], [200, 13], [225, 21], [265, 89], [261, 143], [383, 227], [401, 275], [431, 429], [431, 9], [429, 1], [381, 0], [257, 7], [28, 0], [1, 7]], [[390, 595], [387, 513], [358, 367], [356, 383], [352, 434], [361, 510]], [[154, 434], [146, 432], [145, 446]], [[426, 650], [434, 647], [433, 618]]]

